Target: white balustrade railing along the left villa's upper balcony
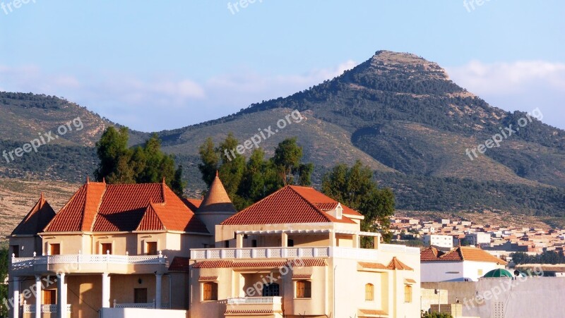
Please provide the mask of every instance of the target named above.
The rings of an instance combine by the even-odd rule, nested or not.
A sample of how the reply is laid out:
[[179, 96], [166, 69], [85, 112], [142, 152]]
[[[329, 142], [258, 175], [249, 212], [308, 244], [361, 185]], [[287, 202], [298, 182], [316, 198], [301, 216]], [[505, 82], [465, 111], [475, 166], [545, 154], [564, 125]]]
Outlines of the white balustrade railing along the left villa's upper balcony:
[[167, 264], [167, 257], [163, 255], [44, 255], [36, 257], [12, 257], [11, 268], [25, 269], [35, 265], [53, 264], [124, 264], [124, 265], [145, 265], [145, 264]]

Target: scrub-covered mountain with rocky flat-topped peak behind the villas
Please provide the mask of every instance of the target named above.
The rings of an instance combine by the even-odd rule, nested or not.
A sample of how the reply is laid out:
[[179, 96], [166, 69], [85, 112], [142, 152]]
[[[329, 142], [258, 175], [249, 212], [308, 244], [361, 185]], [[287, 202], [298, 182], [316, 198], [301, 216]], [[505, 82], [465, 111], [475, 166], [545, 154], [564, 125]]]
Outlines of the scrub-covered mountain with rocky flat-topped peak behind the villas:
[[[77, 181], [73, 176], [83, 178], [94, 169], [92, 145], [102, 127], [117, 125], [55, 97], [1, 93], [0, 102], [3, 118], [11, 116], [8, 121], [0, 119], [0, 123], [8, 122], [8, 128], [0, 126], [3, 149], [6, 145], [13, 149], [16, 140], [28, 140], [37, 131], [53, 129], [61, 118], [78, 114], [89, 118], [80, 137], [69, 133], [69, 140], [64, 136], [64, 141], [49, 145], [58, 148], [42, 146], [42, 154], [26, 154], [29, 159], [18, 158], [22, 159], [19, 163], [7, 167], [4, 161], [0, 176]], [[294, 110], [302, 114], [301, 121], [289, 117]], [[528, 122], [518, 131], [521, 118]], [[41, 125], [32, 130], [18, 128], [31, 120]], [[540, 216], [552, 223], [565, 216], [565, 131], [535, 116], [487, 104], [451, 81], [437, 63], [414, 54], [377, 51], [343, 75], [289, 97], [251, 104], [237, 114], [158, 135], [163, 149], [185, 166], [194, 193], [204, 188], [196, 164], [198, 147], [206, 137], [218, 143], [233, 132], [244, 142], [268, 128], [273, 135], [261, 137], [259, 145], [272, 155], [278, 142], [297, 136], [305, 159], [316, 165], [314, 181], [319, 182], [321, 174], [338, 162], [352, 164], [360, 159], [374, 169], [382, 185], [396, 192], [397, 209], [506, 211]], [[472, 159], [466, 153], [506, 132], [504, 128], [516, 131], [503, 138], [499, 147]], [[32, 133], [26, 135], [26, 131]], [[148, 136], [131, 135], [132, 145]], [[37, 166], [42, 164], [39, 161], [51, 160], [52, 172], [22, 164], [35, 157]], [[72, 173], [59, 167], [71, 164]]]

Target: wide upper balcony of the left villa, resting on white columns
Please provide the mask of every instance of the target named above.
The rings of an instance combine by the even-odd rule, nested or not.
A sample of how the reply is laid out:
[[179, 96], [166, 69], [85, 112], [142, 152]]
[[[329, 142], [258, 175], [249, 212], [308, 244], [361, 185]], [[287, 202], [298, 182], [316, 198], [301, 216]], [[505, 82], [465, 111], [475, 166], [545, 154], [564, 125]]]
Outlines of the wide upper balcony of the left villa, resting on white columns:
[[153, 273], [167, 267], [163, 255], [44, 255], [12, 257], [11, 271], [17, 274], [65, 273]]

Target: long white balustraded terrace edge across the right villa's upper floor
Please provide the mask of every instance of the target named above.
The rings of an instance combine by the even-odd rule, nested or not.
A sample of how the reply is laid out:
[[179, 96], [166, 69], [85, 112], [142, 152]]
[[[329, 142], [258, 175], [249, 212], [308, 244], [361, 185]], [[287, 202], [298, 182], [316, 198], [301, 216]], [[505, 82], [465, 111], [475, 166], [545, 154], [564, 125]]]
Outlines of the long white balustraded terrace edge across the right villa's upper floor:
[[249, 247], [193, 249], [191, 259], [281, 259], [281, 258], [347, 258], [374, 260], [381, 252], [420, 255], [420, 249], [404, 245], [379, 245], [378, 250], [352, 247]]

